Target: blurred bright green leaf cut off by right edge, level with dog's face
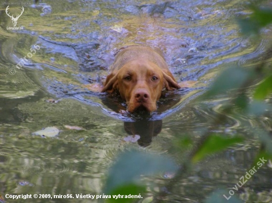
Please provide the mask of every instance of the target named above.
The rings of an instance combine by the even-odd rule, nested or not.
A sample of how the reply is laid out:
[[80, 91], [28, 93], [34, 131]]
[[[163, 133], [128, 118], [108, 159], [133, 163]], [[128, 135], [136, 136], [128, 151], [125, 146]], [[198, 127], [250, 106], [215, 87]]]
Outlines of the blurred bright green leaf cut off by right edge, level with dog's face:
[[254, 93], [254, 99], [264, 100], [266, 96], [272, 93], [272, 75], [265, 78], [265, 80], [259, 84]]

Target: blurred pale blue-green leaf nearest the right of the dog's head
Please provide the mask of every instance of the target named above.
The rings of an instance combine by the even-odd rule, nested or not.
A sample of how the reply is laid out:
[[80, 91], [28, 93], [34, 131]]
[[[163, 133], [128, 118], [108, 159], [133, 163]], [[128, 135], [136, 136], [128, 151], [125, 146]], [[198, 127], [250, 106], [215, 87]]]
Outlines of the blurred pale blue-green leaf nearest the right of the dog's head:
[[204, 94], [204, 97], [211, 97], [217, 94], [226, 93], [226, 91], [239, 88], [250, 76], [250, 71], [231, 67], [225, 69], [214, 81], [210, 90]]

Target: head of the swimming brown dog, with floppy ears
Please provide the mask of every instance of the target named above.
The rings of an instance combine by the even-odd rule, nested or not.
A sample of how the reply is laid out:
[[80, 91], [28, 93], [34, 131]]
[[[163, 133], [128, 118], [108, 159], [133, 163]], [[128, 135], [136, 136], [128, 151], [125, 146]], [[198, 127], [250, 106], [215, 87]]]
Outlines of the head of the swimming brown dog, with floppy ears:
[[150, 61], [134, 60], [109, 74], [102, 92], [119, 91], [130, 112], [137, 109], [152, 112], [157, 109], [156, 102], [164, 88], [180, 88], [168, 69], [161, 69]]

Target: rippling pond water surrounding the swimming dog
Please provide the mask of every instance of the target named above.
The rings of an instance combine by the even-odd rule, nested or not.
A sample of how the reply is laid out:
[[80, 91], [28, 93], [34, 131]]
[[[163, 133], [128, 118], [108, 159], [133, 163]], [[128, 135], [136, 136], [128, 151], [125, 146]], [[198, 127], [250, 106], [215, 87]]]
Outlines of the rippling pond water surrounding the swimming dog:
[[[198, 100], [219, 71], [233, 64], [252, 67], [260, 59], [272, 63], [271, 56], [263, 54], [271, 28], [257, 41], [239, 33], [234, 17], [250, 12], [247, 3], [38, 1], [24, 6], [17, 23], [23, 30], [18, 31], [6, 29], [12, 22], [4, 11], [6, 5], [1, 5], [0, 195], [101, 194], [109, 167], [126, 149], [167, 154], [181, 163], [189, 152], [177, 153], [173, 140], [184, 135], [197, 139], [212, 125], [222, 103], [236, 97], [226, 94], [214, 100]], [[10, 5], [9, 11], [20, 12], [20, 6]], [[35, 44], [40, 49], [28, 57]], [[158, 111], [146, 122], [140, 120], [146, 115], [119, 112], [125, 109], [122, 102], [90, 92], [85, 86], [105, 78], [118, 49], [133, 44], [160, 48], [178, 81], [198, 81], [192, 88], [163, 98]], [[15, 68], [25, 56], [28, 61]], [[10, 68], [16, 72], [10, 72]], [[248, 94], [252, 95], [252, 90]], [[228, 116], [217, 131], [239, 133], [246, 141], [199, 163], [176, 185], [169, 202], [203, 202], [218, 188], [231, 189], [251, 168], [259, 147], [251, 128], [271, 130], [271, 115], [256, 118], [239, 111], [237, 114], [235, 118]], [[52, 126], [61, 130], [56, 137], [32, 134]], [[136, 140], [130, 136], [132, 132], [141, 134], [141, 138]], [[249, 203], [272, 202], [271, 180], [271, 169], [264, 166], [235, 194]], [[167, 181], [165, 174], [146, 178], [148, 195], [155, 195]], [[51, 200], [64, 201], [97, 202]]]

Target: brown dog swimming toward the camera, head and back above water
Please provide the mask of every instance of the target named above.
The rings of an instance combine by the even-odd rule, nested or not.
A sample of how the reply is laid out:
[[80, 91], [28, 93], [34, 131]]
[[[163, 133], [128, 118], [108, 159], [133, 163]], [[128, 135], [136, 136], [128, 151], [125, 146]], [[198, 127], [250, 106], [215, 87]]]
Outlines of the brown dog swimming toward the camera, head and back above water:
[[148, 46], [129, 46], [120, 51], [101, 92], [119, 91], [128, 111], [157, 109], [162, 90], [179, 89], [162, 54]]

